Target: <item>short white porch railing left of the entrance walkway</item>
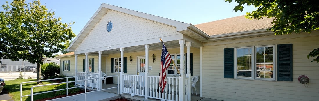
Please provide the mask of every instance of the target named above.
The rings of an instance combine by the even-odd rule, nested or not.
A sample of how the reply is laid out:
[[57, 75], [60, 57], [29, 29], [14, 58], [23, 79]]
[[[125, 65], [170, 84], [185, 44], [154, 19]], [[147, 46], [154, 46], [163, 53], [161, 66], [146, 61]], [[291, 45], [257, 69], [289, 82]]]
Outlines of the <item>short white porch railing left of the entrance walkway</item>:
[[[98, 79], [91, 79], [91, 78], [98, 78], [99, 77], [99, 73], [92, 73], [92, 72], [88, 72], [87, 73], [88, 76], [88, 79], [90, 80], [87, 80], [87, 85], [89, 87], [92, 87], [92, 88], [99, 88], [99, 82], [98, 82]], [[75, 77], [75, 80], [85, 80], [85, 72], [76, 72], [76, 76]], [[75, 82], [75, 85], [85, 85], [85, 81], [76, 81]]]

